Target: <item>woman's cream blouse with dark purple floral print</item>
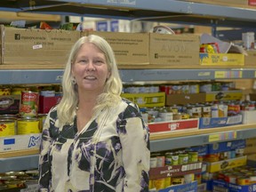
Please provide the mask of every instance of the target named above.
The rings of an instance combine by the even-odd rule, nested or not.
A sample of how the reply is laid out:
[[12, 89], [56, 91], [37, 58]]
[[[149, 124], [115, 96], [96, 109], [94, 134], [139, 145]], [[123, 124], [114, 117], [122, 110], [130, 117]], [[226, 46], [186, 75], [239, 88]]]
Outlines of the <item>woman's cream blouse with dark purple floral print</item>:
[[106, 110], [77, 132], [59, 126], [52, 108], [44, 122], [39, 156], [40, 191], [148, 191], [149, 131], [129, 100]]

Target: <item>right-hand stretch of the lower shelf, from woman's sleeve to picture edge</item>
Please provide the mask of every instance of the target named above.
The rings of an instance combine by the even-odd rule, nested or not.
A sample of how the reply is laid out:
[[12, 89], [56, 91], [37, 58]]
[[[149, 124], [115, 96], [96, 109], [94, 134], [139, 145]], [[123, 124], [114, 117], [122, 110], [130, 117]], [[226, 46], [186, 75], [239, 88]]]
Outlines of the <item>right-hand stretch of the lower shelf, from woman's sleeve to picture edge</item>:
[[[243, 140], [252, 138], [255, 135], [256, 124], [238, 124], [189, 132], [151, 133], [150, 151], [156, 152], [175, 148], [188, 148], [226, 140]], [[220, 138], [220, 140], [213, 141], [212, 138]]]

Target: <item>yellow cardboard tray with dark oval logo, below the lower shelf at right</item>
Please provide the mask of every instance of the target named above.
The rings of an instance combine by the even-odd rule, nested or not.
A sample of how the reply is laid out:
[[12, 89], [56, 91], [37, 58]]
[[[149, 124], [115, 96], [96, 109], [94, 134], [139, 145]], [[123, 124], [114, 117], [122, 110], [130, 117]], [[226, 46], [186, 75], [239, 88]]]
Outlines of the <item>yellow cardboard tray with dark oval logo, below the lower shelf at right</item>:
[[243, 166], [247, 163], [247, 156], [239, 156], [219, 162], [207, 163], [207, 172], [220, 172], [234, 167]]

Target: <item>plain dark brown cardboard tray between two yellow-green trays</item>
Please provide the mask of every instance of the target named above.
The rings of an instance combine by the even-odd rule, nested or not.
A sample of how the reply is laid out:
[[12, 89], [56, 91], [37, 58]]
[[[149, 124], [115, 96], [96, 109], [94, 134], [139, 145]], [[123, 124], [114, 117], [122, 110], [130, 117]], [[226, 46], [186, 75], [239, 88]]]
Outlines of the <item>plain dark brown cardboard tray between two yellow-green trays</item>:
[[185, 105], [188, 103], [194, 104], [194, 103], [205, 102], [205, 100], [206, 100], [205, 92], [187, 93], [187, 94], [167, 94], [165, 105], [172, 106], [174, 104], [176, 105]]

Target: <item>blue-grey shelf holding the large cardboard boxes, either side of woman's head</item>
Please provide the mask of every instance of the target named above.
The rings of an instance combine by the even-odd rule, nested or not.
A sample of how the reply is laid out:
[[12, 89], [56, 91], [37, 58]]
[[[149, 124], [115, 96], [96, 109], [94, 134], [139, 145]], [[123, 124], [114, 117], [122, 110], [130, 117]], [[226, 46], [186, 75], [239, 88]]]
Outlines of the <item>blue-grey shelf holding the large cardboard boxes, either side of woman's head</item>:
[[[124, 83], [255, 78], [255, 69], [119, 69]], [[60, 84], [62, 69], [0, 70], [0, 84]]]

